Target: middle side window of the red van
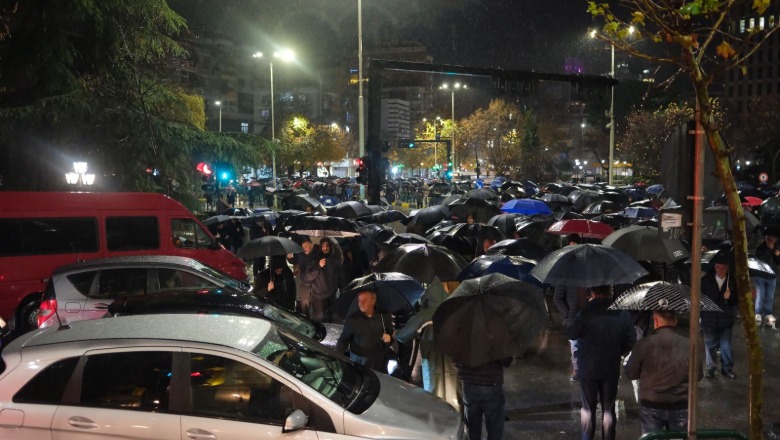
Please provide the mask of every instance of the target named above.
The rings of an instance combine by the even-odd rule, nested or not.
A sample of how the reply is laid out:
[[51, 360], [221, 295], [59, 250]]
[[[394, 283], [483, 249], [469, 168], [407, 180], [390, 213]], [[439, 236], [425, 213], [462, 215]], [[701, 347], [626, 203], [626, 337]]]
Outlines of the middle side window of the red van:
[[109, 251], [160, 249], [157, 217], [106, 217]]

